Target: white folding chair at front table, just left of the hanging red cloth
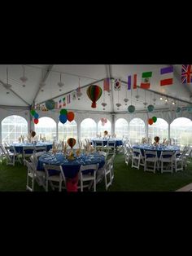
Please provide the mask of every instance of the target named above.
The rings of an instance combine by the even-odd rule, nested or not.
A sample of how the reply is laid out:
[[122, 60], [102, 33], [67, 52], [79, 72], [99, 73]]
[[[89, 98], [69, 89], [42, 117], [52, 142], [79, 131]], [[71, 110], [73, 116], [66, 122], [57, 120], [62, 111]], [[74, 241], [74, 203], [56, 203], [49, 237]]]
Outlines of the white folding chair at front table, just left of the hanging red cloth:
[[[59, 188], [59, 192], [62, 191], [62, 188], [66, 188], [66, 179], [63, 174], [63, 168], [62, 166], [55, 166], [55, 165], [43, 165], [44, 169], [46, 171], [46, 192], [48, 192], [48, 184], [50, 182], [50, 186], [53, 190], [55, 188]], [[50, 171], [54, 171], [55, 174], [51, 175]], [[55, 183], [59, 183], [58, 185], [55, 185]], [[62, 183], [64, 183], [64, 187], [62, 187]]]

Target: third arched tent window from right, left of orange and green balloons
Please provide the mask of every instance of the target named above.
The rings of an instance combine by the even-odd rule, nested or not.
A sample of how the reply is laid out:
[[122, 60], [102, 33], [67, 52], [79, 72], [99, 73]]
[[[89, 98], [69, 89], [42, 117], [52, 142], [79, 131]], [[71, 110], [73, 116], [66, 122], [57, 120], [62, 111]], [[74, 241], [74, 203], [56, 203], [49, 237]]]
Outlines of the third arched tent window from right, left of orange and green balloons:
[[141, 143], [145, 137], [145, 123], [140, 118], [133, 118], [129, 123], [129, 137], [131, 143]]

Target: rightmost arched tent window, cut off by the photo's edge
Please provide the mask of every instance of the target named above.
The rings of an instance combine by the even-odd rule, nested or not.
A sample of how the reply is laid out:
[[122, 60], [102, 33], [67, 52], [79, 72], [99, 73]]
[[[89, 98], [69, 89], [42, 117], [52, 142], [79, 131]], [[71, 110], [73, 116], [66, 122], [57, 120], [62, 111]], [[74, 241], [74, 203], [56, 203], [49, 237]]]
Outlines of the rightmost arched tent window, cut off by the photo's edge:
[[172, 143], [184, 145], [192, 144], [192, 121], [185, 117], [179, 117], [172, 121], [170, 126]]

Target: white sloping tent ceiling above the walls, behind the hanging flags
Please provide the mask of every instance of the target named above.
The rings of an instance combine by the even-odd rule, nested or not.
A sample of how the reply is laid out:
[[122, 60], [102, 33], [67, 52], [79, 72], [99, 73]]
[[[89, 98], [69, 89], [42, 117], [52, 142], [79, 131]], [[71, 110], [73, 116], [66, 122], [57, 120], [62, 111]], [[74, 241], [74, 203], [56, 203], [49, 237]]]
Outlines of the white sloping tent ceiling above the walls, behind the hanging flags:
[[[165, 95], [171, 95], [179, 99], [190, 101], [190, 95], [192, 95], [192, 85], [181, 84], [181, 65], [174, 65], [174, 84], [172, 86], [159, 86], [159, 69], [166, 67], [168, 65], [131, 65], [131, 64], [112, 64], [111, 65], [111, 76], [114, 78], [120, 78], [122, 81], [127, 81], [127, 76], [130, 74], [137, 73], [137, 85], [140, 86], [142, 72], [152, 71], [153, 75], [151, 78], [151, 90], [154, 90]], [[26, 86], [22, 86], [20, 77], [23, 76], [23, 65], [0, 65], [0, 81], [7, 84], [7, 68], [8, 68], [8, 78], [9, 84], [11, 84], [11, 90], [14, 90], [17, 95], [20, 95], [28, 104], [33, 104], [33, 100], [39, 90], [40, 83], [43, 77], [45, 77], [47, 68], [50, 65], [25, 65], [25, 77], [28, 77]], [[43, 70], [43, 73], [42, 73]], [[60, 73], [62, 73], [62, 82], [64, 86], [62, 90], [59, 91], [58, 82], [60, 81]], [[50, 74], [46, 77], [46, 85], [39, 91], [36, 97], [36, 103], [43, 102], [47, 99], [54, 98], [58, 95], [68, 93], [68, 91], [76, 90], [79, 84], [79, 77], [81, 77], [81, 86], [85, 86], [89, 83], [96, 82], [104, 77], [107, 77], [107, 66], [104, 64], [54, 64], [51, 66]], [[98, 86], [103, 88], [103, 82], [98, 82]], [[129, 104], [131, 104], [131, 92], [126, 90], [126, 84], [122, 84], [121, 90], [119, 91], [119, 103], [121, 104], [119, 110], [116, 107], [118, 103], [118, 91], [113, 91], [114, 96], [114, 110], [115, 112], [126, 111]], [[95, 110], [103, 111], [103, 98], [105, 96], [105, 102], [107, 106], [105, 111], [111, 112], [112, 102], [111, 95], [107, 92], [98, 99], [97, 108], [90, 108], [91, 101], [86, 95], [87, 87], [83, 88], [81, 92], [83, 93], [81, 100], [71, 100], [71, 104], [68, 104], [67, 108], [70, 109], [80, 109], [80, 110]], [[14, 95], [11, 91], [7, 94], [7, 89], [0, 83], [0, 105], [11, 105], [11, 106], [26, 106], [20, 98]], [[128, 105], [124, 104], [124, 98], [129, 99]], [[138, 100], [135, 98], [139, 95]], [[159, 95], [155, 95], [148, 90], [137, 89], [132, 92], [132, 104], [135, 105], [137, 110], [142, 110], [144, 108], [144, 102], [147, 104], [153, 104], [153, 99], [156, 98], [155, 108], [173, 108], [171, 104], [172, 99], [169, 99], [170, 104], [165, 104], [164, 100], [159, 100]], [[185, 104], [181, 104], [185, 105]]]

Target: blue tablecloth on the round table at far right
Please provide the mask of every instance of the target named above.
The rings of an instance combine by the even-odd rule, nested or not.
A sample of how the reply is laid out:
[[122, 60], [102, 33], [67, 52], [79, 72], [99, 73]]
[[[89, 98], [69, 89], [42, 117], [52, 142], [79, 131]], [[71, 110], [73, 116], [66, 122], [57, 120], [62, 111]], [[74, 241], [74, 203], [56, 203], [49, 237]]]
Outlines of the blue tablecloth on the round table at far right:
[[144, 156], [144, 150], [156, 151], [157, 157], [160, 157], [162, 151], [177, 151], [180, 148], [178, 146], [151, 146], [151, 145], [133, 145], [133, 148], [141, 149], [142, 155]]

